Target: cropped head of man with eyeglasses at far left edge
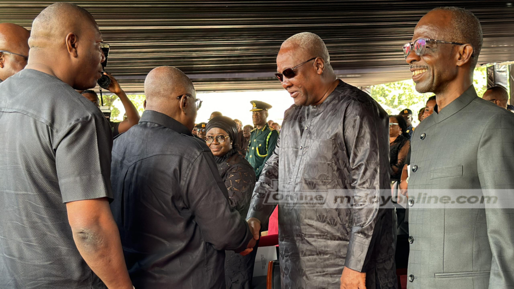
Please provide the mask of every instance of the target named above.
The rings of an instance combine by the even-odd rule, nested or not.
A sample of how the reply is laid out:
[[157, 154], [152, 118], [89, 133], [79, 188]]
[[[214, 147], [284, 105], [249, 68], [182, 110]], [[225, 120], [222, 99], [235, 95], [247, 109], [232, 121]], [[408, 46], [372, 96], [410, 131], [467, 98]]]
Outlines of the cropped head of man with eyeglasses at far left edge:
[[27, 65], [30, 32], [20, 25], [0, 23], [0, 83]]

